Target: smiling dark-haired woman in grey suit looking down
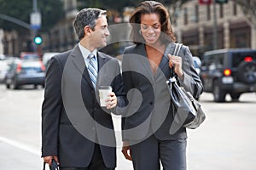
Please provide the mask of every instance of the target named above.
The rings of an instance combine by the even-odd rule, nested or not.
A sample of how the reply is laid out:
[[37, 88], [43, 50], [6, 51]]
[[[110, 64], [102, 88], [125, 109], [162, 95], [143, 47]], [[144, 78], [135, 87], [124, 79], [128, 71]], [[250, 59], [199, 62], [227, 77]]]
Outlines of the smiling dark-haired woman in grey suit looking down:
[[[131, 15], [131, 38], [125, 48], [122, 70], [129, 99], [123, 118], [123, 154], [135, 170], [186, 169], [187, 134], [184, 127], [170, 129], [173, 111], [166, 80], [171, 69], [180, 86], [195, 97], [202, 93], [192, 55], [183, 46], [173, 56], [175, 37], [169, 14], [158, 2], [140, 3]], [[130, 151], [130, 152], [129, 152]]]

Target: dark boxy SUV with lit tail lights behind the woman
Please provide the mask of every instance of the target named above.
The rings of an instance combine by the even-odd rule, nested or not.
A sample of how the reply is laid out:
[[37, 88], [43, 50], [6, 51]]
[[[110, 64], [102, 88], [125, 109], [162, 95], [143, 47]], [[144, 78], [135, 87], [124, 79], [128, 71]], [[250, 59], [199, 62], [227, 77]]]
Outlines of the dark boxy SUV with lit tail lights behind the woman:
[[201, 81], [214, 101], [224, 102], [226, 94], [237, 101], [241, 94], [256, 92], [256, 49], [218, 49], [203, 55]]

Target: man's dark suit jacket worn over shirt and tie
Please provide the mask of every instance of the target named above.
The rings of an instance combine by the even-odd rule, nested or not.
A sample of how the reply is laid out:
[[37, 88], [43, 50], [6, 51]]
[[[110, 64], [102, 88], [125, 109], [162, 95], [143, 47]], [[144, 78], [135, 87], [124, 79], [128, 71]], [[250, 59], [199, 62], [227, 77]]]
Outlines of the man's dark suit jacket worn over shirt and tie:
[[[97, 59], [96, 87], [112, 86], [118, 105], [123, 105], [118, 60], [101, 52]], [[42, 106], [42, 156], [58, 156], [61, 167], [88, 167], [95, 143], [106, 166], [116, 167], [112, 117], [99, 105], [98, 91], [76, 46], [50, 60]]]

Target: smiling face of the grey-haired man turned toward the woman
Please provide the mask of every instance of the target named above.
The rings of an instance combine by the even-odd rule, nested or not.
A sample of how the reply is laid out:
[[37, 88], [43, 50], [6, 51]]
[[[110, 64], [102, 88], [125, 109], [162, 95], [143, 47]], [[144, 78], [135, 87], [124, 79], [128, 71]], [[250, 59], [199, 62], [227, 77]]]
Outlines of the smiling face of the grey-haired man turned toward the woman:
[[106, 16], [102, 15], [96, 20], [95, 30], [91, 32], [90, 43], [96, 48], [105, 47], [108, 36], [108, 21]]

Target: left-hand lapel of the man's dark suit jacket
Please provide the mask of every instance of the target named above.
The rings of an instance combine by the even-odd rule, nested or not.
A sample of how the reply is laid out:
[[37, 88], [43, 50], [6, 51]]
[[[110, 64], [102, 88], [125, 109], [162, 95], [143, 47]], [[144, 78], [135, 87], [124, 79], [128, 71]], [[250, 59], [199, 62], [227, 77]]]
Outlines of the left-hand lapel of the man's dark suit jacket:
[[93, 88], [92, 82], [90, 81], [89, 72], [88, 72], [85, 62], [84, 62], [84, 57], [83, 57], [78, 45], [73, 49], [73, 52], [71, 53], [71, 55], [73, 56], [74, 65], [76, 65], [79, 72], [83, 75], [83, 77], [86, 79], [86, 81], [89, 82], [90, 86]]

